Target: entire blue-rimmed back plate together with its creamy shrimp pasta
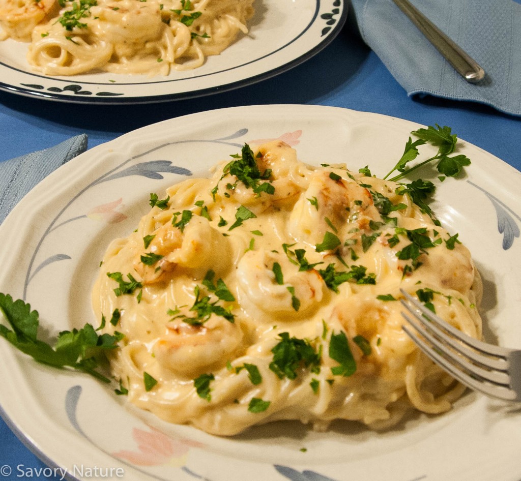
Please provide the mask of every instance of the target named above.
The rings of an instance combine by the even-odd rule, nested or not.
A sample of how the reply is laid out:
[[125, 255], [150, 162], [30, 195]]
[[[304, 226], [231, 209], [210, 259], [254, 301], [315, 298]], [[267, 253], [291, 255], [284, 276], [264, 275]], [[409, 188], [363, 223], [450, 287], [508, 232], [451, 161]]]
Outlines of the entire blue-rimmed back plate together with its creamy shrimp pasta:
[[347, 11], [343, 0], [2, 0], [0, 88], [100, 104], [230, 90], [317, 53]]

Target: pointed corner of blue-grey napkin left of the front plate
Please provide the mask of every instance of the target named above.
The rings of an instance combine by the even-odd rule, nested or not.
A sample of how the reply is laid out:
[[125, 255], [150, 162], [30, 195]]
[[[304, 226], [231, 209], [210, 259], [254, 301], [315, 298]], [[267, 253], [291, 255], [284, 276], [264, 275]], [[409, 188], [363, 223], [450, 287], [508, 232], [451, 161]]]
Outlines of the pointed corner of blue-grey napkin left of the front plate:
[[84, 152], [86, 134], [54, 147], [0, 162], [0, 223], [20, 199], [59, 166]]

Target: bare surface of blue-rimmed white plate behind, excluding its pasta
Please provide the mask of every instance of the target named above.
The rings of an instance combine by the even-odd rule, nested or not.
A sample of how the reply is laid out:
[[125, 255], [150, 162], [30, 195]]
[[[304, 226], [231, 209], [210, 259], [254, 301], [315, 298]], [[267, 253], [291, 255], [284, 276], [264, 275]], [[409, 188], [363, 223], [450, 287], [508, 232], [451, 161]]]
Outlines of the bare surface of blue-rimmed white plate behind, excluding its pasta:
[[48, 77], [31, 71], [27, 44], [0, 42], [0, 90], [74, 103], [138, 104], [197, 97], [273, 77], [311, 58], [338, 34], [345, 0], [256, 0], [250, 32], [195, 70], [167, 77], [92, 73]]

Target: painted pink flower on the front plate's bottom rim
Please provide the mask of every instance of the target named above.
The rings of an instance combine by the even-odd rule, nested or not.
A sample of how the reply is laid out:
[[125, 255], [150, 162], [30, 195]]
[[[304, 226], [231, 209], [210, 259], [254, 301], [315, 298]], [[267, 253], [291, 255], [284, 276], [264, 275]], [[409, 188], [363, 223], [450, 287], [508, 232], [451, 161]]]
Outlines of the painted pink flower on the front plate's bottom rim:
[[183, 466], [190, 448], [200, 448], [203, 445], [190, 439], [171, 439], [166, 434], [151, 428], [143, 431], [137, 427], [132, 429], [132, 437], [138, 444], [138, 451], [118, 451], [113, 455], [126, 459], [140, 466]]

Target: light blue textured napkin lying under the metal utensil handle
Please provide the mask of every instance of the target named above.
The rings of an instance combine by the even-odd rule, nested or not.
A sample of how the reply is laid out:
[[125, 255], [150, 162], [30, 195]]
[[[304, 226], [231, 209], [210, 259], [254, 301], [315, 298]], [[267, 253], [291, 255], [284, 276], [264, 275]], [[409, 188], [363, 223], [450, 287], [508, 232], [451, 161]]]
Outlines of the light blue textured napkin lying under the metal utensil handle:
[[473, 100], [521, 115], [521, 0], [411, 0], [485, 69], [467, 83], [392, 0], [351, 0], [363, 40], [409, 96]]

